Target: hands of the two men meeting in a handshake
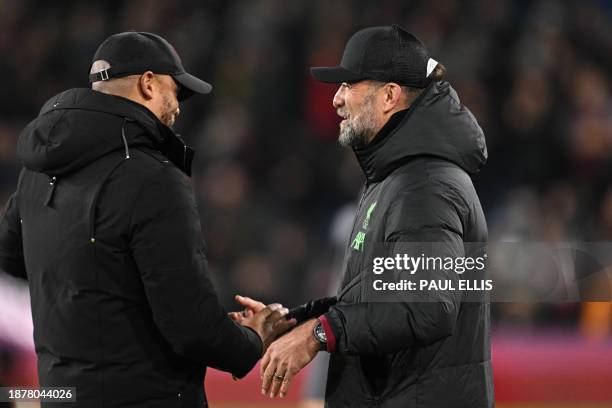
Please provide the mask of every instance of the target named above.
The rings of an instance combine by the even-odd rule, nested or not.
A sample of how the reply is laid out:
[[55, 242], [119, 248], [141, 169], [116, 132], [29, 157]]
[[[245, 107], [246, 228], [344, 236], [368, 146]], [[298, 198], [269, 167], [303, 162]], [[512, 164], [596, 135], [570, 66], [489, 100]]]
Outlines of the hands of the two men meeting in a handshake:
[[[318, 321], [315, 318], [306, 320], [303, 313], [300, 316], [293, 311], [291, 315], [295, 317], [290, 316], [289, 310], [278, 303], [266, 306], [243, 296], [236, 296], [236, 301], [245, 309], [231, 312], [229, 317], [254, 330], [263, 343], [261, 393], [270, 398], [283, 398], [293, 377], [324, 349], [324, 343], [318, 342], [313, 334]], [[301, 322], [299, 325], [298, 321]]]

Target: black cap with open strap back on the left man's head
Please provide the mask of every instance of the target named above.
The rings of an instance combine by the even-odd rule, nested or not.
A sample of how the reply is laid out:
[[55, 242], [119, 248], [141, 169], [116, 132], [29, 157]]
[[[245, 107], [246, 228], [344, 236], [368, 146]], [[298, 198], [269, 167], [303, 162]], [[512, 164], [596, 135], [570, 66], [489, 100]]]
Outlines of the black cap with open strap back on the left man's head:
[[178, 99], [181, 101], [194, 93], [212, 91], [211, 84], [185, 71], [174, 47], [157, 34], [138, 31], [113, 34], [100, 44], [92, 64], [99, 60], [108, 62], [110, 67], [90, 74], [89, 82], [152, 71], [174, 78], [180, 85]]

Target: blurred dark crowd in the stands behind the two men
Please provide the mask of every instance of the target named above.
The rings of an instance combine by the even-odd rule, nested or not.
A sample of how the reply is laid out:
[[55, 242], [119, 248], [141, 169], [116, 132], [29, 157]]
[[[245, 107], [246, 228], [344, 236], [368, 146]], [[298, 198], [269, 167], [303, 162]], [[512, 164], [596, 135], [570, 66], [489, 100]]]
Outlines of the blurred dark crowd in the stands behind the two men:
[[[447, 67], [485, 131], [489, 162], [474, 182], [491, 240], [612, 241], [612, 2], [603, 0], [0, 0], [0, 202], [15, 189], [19, 132], [41, 105], [89, 86], [108, 35], [156, 32], [215, 87], [181, 107], [176, 129], [197, 151], [193, 185], [223, 301], [326, 295], [363, 176], [336, 141], [336, 88], [308, 67], [337, 64], [353, 32], [391, 23]], [[601, 302], [494, 311], [496, 327], [589, 338], [609, 336], [611, 322]]]

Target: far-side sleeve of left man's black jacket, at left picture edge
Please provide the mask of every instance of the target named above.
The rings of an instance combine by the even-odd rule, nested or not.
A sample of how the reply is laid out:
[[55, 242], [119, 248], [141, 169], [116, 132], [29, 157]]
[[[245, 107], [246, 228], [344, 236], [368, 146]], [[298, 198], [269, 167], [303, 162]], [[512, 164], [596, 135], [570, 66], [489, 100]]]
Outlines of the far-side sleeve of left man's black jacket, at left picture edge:
[[27, 279], [17, 193], [9, 198], [0, 221], [0, 269], [18, 278]]

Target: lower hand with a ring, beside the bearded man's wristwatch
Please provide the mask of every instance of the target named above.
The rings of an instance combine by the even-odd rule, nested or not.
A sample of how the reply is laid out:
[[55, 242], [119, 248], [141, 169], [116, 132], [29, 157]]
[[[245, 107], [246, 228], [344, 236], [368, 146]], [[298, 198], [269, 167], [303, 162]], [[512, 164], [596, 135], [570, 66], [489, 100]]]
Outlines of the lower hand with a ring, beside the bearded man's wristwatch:
[[273, 342], [261, 360], [261, 393], [287, 395], [293, 377], [321, 350], [313, 335], [317, 319], [307, 320]]

